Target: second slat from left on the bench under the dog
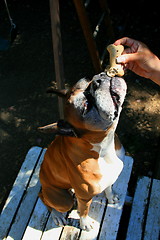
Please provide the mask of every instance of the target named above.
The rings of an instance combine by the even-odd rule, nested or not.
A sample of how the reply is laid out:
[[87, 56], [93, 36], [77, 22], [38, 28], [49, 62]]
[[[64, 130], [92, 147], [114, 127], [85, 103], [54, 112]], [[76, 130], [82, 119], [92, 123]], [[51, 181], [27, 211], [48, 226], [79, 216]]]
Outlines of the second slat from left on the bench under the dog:
[[[40, 165], [43, 161], [44, 154], [45, 154], [45, 150], [43, 150], [41, 157], [39, 158], [39, 161], [34, 170], [33, 176], [30, 180], [30, 183], [27, 187], [25, 195], [23, 196], [22, 202], [16, 213], [14, 222], [8, 233], [7, 240], [9, 239], [10, 236], [14, 237], [13, 239], [17, 239], [17, 240], [21, 239], [21, 237], [23, 236], [24, 230], [27, 226], [30, 215], [31, 215], [34, 205], [37, 201], [38, 193], [41, 188], [41, 185], [39, 182], [39, 169], [40, 169]], [[18, 229], [18, 231], [17, 231], [17, 229]]]

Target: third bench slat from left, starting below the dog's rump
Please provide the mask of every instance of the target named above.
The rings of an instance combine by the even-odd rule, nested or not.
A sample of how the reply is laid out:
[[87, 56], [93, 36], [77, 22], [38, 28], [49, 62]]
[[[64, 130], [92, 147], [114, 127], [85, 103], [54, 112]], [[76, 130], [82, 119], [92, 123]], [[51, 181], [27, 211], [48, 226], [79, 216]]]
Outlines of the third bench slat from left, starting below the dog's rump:
[[41, 239], [48, 217], [49, 212], [39, 198], [22, 239]]

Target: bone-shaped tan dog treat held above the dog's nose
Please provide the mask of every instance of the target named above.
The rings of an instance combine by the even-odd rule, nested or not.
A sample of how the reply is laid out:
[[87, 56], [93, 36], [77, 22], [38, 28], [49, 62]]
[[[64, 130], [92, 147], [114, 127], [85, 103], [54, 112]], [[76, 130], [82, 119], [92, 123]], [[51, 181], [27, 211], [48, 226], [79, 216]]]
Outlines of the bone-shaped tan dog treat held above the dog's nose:
[[116, 63], [116, 58], [122, 54], [124, 47], [122, 45], [115, 46], [114, 44], [110, 44], [107, 50], [110, 54], [110, 65], [106, 68], [105, 72], [109, 77], [114, 77], [115, 75], [119, 77], [123, 76], [123, 66]]

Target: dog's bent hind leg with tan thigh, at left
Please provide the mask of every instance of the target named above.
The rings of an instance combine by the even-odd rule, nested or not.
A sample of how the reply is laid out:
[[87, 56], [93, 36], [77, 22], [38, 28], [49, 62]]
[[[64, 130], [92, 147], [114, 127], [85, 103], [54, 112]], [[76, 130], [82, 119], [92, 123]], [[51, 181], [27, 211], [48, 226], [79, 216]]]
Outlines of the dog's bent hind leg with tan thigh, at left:
[[69, 211], [74, 203], [74, 199], [69, 190], [52, 186], [50, 188], [42, 188], [39, 196], [51, 211], [55, 224], [58, 226], [66, 225], [66, 219], [63, 213]]

